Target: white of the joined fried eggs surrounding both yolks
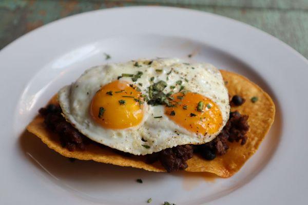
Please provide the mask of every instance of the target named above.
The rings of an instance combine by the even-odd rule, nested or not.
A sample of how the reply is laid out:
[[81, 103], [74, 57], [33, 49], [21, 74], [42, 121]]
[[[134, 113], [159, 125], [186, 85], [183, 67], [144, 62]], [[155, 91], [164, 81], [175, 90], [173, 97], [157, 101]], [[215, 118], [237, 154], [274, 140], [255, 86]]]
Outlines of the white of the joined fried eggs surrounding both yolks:
[[[86, 70], [78, 80], [65, 86], [58, 93], [59, 103], [66, 120], [88, 138], [134, 155], [151, 154], [178, 145], [204, 144], [213, 140], [225, 126], [230, 111], [228, 92], [219, 70], [210, 64], [187, 64], [176, 58], [153, 59], [153, 62], [147, 65], [149, 61], [139, 60], [140, 67], [136, 66], [136, 61], [129, 61], [96, 66]], [[157, 72], [157, 69], [163, 71]], [[172, 72], [168, 74], [171, 69]], [[136, 127], [117, 130], [100, 126], [89, 113], [91, 100], [95, 93], [100, 90], [101, 86], [117, 80], [122, 73], [135, 74], [138, 71], [142, 71], [143, 75], [137, 82], [133, 82], [130, 77], [122, 77], [120, 80], [136, 84], [142, 93], [146, 93], [150, 86], [151, 77], [155, 77], [154, 82], [166, 81], [167, 87], [164, 92], [169, 92], [170, 86], [175, 85], [177, 80], [182, 80], [182, 85], [187, 90], [200, 93], [219, 106], [223, 119], [220, 129], [214, 134], [205, 136], [192, 133], [170, 120], [164, 114], [164, 106], [145, 106], [143, 120]], [[184, 80], [185, 78], [188, 82]], [[138, 83], [142, 83], [142, 86]], [[162, 118], [154, 118], [155, 116], [162, 116]], [[142, 145], [147, 145], [149, 148]]]

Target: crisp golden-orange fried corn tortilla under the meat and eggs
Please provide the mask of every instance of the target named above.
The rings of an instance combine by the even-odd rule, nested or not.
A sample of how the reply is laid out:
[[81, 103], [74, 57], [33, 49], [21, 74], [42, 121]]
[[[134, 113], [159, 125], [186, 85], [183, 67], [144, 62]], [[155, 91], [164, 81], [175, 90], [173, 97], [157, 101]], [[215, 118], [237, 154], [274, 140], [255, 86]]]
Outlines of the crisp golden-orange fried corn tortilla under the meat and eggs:
[[[247, 78], [232, 72], [221, 70], [229, 96], [240, 95], [246, 99], [245, 103], [239, 107], [233, 107], [231, 110], [238, 110], [241, 114], [249, 115], [248, 124], [250, 129], [247, 133], [245, 145], [239, 142], [229, 142], [229, 149], [223, 156], [217, 156], [214, 160], [208, 161], [200, 155], [194, 154], [194, 157], [187, 161], [188, 172], [210, 172], [220, 177], [230, 177], [241, 169], [244, 163], [258, 149], [261, 141], [265, 137], [269, 128], [271, 128], [275, 117], [275, 105], [271, 97], [268, 96], [260, 87], [249, 81]], [[253, 103], [250, 99], [257, 97], [258, 101]], [[57, 104], [56, 96], [50, 100], [50, 103]], [[165, 172], [160, 162], [149, 165], [146, 163], [145, 156], [123, 156], [114, 152], [108, 147], [99, 147], [97, 145], [88, 145], [85, 151], [75, 150], [70, 152], [61, 146], [59, 137], [45, 127], [44, 118], [41, 115], [28, 125], [27, 130], [41, 140], [54, 151], [63, 156], [94, 160], [98, 162], [111, 163], [122, 167], [141, 168], [147, 171]]]

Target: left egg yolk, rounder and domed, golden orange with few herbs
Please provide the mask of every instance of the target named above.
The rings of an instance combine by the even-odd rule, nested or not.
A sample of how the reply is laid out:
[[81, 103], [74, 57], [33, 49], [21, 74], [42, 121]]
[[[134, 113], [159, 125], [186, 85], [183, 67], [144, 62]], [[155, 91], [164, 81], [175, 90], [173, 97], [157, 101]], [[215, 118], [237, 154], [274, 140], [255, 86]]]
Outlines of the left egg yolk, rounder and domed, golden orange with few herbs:
[[90, 106], [92, 118], [102, 127], [125, 129], [143, 119], [143, 103], [137, 87], [115, 80], [94, 95]]

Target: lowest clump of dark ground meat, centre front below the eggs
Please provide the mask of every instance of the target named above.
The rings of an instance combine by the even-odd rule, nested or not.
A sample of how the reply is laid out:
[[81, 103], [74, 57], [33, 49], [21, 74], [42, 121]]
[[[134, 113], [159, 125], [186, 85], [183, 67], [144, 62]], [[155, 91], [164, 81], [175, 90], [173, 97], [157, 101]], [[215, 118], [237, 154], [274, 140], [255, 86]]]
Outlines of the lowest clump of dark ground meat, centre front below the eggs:
[[167, 148], [160, 152], [147, 155], [149, 163], [159, 160], [167, 172], [185, 170], [188, 165], [186, 161], [192, 157], [194, 149], [191, 145], [181, 145]]

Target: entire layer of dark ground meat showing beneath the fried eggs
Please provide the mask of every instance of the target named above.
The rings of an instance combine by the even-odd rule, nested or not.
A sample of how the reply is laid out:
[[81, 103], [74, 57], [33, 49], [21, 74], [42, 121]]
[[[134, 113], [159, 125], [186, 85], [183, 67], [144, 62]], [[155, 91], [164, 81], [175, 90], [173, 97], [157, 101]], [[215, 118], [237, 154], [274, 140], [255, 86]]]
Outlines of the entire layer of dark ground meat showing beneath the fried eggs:
[[[106, 147], [90, 140], [67, 122], [61, 114], [60, 106], [48, 105], [46, 108], [41, 108], [39, 112], [44, 116], [46, 126], [59, 134], [62, 146], [69, 151], [85, 150], [88, 144]], [[249, 130], [247, 119], [247, 115], [241, 115], [238, 111], [231, 112], [225, 127], [214, 140], [203, 145], [181, 145], [147, 154], [147, 162], [153, 163], [159, 160], [167, 172], [172, 172], [185, 170], [188, 167], [186, 161], [193, 156], [194, 152], [200, 153], [206, 160], [213, 160], [217, 155], [227, 152], [227, 141], [241, 141], [241, 145], [246, 143], [246, 133]], [[112, 150], [123, 156], [131, 156], [129, 153]]]

